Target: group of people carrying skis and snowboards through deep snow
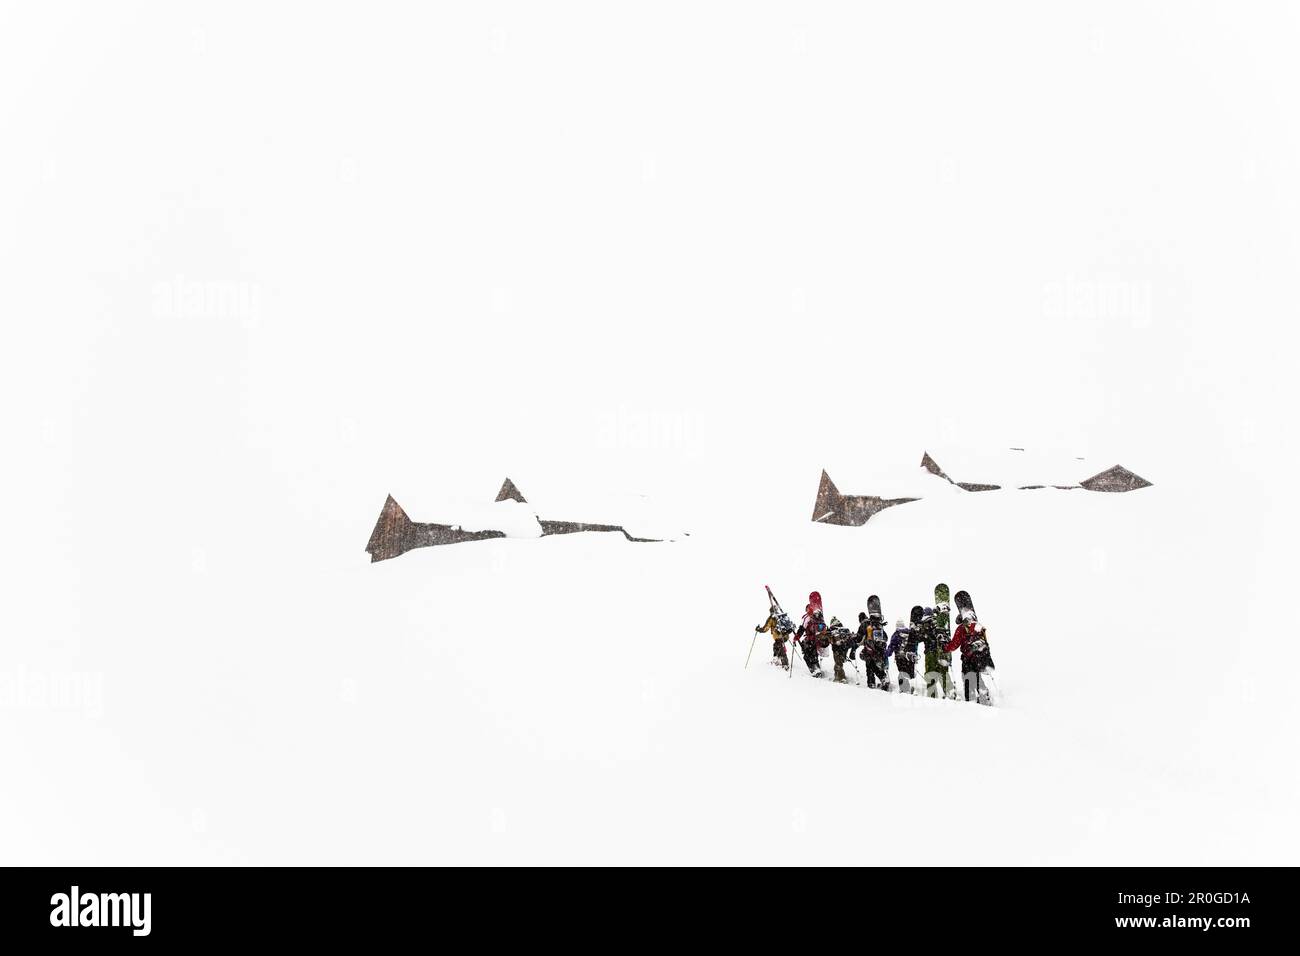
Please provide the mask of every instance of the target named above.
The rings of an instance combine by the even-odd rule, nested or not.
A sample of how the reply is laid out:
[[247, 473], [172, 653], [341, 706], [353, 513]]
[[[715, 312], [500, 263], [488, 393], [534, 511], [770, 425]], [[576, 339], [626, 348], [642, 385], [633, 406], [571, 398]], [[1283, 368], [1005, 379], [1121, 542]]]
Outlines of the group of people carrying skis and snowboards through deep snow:
[[[822, 594], [816, 591], [809, 594], [803, 610], [803, 620], [796, 628], [789, 615], [768, 591], [770, 610], [767, 620], [754, 628], [755, 633], [772, 635], [772, 663], [789, 670], [790, 658], [786, 643], [793, 643], [803, 657], [809, 674], [824, 676], [822, 658], [829, 656], [835, 665], [836, 683], [848, 683], [844, 667], [861, 661], [861, 676], [866, 676], [867, 687], [890, 692], [897, 685], [898, 693], [946, 697], [957, 700], [957, 688], [952, 678], [953, 652], [961, 653], [962, 684], [965, 698], [979, 704], [992, 704], [989, 683], [992, 682], [993, 656], [988, 646], [988, 631], [975, 617], [975, 607], [965, 591], [957, 592], [957, 627], [949, 632], [952, 620], [948, 602], [948, 585], [935, 588], [935, 605], [916, 605], [911, 609], [910, 620], [898, 619], [893, 633], [889, 633], [884, 615], [880, 613], [880, 598], [872, 594], [867, 600], [866, 611], [858, 613], [858, 628], [845, 627], [838, 618], [829, 620], [822, 609]], [[924, 657], [920, 649], [924, 646]], [[889, 661], [893, 659], [897, 680], [889, 679]], [[918, 662], [924, 667], [918, 679]], [[857, 671], [857, 663], [850, 663]]]

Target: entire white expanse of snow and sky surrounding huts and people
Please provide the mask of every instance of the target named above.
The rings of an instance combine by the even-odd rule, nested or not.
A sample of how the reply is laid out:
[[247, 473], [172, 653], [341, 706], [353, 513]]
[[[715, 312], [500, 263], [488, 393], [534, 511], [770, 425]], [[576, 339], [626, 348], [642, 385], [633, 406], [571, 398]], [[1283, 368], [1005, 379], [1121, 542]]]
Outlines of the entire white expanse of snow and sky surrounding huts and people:
[[1297, 16], [0, 5], [0, 862], [1294, 864]]

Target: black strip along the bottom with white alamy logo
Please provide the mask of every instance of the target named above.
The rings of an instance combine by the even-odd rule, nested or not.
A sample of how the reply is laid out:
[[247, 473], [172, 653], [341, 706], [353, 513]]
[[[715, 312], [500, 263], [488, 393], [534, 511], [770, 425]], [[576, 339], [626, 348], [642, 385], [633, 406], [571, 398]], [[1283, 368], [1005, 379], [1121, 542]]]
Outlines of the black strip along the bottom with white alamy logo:
[[919, 947], [1236, 947], [1290, 934], [1294, 917], [1283, 900], [1291, 877], [1195, 868], [10, 869], [0, 918], [9, 940], [95, 948], [151, 940], [373, 946], [412, 933], [447, 939], [448, 931], [484, 931], [491, 944], [555, 944], [563, 942], [556, 933], [589, 938], [592, 927], [611, 925], [619, 939], [638, 944], [820, 943], [846, 934]]

